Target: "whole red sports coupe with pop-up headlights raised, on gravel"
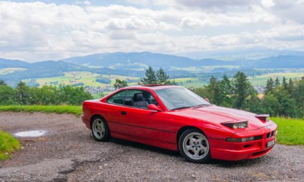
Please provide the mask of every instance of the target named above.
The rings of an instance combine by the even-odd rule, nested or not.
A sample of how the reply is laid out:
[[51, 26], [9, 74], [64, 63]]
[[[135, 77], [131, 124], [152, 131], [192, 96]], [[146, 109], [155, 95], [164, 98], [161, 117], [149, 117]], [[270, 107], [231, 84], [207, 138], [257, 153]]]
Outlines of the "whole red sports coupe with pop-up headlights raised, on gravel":
[[113, 136], [179, 150], [196, 163], [263, 156], [274, 147], [277, 132], [269, 115], [212, 105], [173, 85], [126, 87], [84, 101], [82, 121], [96, 141]]

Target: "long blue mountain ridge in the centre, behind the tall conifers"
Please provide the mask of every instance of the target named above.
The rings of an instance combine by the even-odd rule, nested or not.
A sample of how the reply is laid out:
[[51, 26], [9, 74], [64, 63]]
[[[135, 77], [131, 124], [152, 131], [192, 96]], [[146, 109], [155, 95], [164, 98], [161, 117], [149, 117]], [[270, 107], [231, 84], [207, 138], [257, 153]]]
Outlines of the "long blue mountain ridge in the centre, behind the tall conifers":
[[187, 68], [204, 65], [239, 65], [237, 61], [220, 61], [216, 59], [194, 60], [187, 57], [178, 57], [169, 54], [151, 52], [115, 52], [93, 54], [85, 57], [71, 57], [60, 61], [76, 63], [86, 66], [103, 66], [118, 69], [140, 69], [152, 66], [153, 68], [170, 69], [172, 67]]

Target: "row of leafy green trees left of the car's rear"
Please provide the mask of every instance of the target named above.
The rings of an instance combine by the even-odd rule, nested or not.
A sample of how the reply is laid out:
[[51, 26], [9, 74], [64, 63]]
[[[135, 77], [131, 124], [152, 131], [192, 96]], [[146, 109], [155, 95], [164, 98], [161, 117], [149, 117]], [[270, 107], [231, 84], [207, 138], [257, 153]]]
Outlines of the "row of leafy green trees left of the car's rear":
[[83, 87], [44, 85], [30, 88], [23, 82], [12, 88], [0, 81], [0, 105], [82, 105], [93, 96]]

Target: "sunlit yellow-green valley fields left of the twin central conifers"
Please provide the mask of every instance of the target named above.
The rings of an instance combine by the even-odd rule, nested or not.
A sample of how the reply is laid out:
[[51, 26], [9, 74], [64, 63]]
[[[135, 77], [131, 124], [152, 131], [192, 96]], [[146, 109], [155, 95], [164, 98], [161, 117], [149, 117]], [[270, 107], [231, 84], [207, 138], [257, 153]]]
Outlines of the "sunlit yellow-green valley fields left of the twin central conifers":
[[[105, 74], [96, 74], [92, 72], [65, 72], [62, 77], [50, 77], [50, 78], [42, 78], [36, 79], [39, 86], [43, 85], [74, 85], [77, 83], [84, 83], [84, 86], [89, 87], [105, 87], [106, 83], [99, 83], [96, 81], [99, 77], [106, 77], [111, 80], [110, 84], [115, 83], [115, 79], [139, 79], [137, 77], [124, 77], [119, 75], [105, 75]], [[28, 82], [30, 79], [23, 79], [23, 82]]]

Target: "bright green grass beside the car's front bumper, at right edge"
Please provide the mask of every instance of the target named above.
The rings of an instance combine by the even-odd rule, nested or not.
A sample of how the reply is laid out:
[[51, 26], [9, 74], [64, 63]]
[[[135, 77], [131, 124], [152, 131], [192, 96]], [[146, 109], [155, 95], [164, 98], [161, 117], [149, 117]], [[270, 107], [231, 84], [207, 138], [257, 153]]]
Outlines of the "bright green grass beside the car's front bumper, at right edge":
[[304, 145], [304, 120], [272, 117], [278, 125], [278, 143], [284, 145]]

